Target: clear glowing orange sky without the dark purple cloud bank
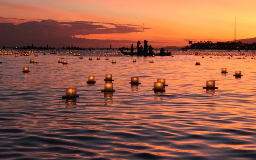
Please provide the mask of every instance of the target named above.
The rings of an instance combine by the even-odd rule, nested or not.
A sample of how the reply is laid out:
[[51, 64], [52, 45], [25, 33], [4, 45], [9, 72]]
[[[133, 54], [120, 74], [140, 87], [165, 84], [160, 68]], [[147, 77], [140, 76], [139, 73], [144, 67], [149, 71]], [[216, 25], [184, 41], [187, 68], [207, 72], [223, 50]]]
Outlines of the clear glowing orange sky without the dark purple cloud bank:
[[[188, 40], [233, 40], [256, 36], [255, 0], [215, 1], [105, 1], [105, 0], [1, 0], [0, 17], [27, 20], [94, 21], [134, 24], [137, 33], [76, 35], [89, 39], [147, 39], [153, 47], [185, 46]], [[0, 22], [24, 21], [0, 19]], [[151, 43], [150, 43], [151, 42]], [[127, 44], [130, 45], [130, 44]]]

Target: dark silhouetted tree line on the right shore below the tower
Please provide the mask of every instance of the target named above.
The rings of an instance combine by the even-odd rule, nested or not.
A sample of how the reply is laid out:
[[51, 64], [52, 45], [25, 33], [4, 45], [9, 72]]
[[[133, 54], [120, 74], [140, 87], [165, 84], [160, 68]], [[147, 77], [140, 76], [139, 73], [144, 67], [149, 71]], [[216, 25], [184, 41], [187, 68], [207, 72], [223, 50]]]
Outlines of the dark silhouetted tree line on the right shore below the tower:
[[242, 43], [241, 41], [236, 42], [217, 42], [212, 43], [212, 41], [200, 41], [197, 43], [193, 43], [192, 41], [188, 41], [190, 46], [186, 46], [182, 49], [216, 49], [216, 50], [254, 50], [256, 49], [256, 43], [248, 44]]

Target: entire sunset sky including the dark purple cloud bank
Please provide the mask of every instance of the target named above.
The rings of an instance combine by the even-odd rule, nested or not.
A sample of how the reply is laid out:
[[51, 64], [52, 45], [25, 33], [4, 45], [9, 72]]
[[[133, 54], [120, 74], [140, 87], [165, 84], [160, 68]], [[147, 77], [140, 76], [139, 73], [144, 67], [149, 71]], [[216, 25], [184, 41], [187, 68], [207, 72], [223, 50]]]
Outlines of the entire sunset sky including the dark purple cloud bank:
[[252, 38], [255, 8], [255, 0], [1, 0], [0, 45], [118, 48], [148, 40], [157, 48], [230, 41], [235, 16], [236, 39]]

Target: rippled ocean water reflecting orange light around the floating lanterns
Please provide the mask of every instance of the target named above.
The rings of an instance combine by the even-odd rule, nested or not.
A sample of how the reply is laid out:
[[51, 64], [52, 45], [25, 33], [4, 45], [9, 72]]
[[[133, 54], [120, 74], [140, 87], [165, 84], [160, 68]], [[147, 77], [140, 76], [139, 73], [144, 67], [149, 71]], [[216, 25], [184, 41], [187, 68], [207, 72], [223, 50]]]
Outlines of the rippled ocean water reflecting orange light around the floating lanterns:
[[[49, 51], [0, 56], [1, 158], [255, 159], [256, 59], [251, 56], [202, 59], [176, 51], [174, 57], [111, 54], [96, 60], [103, 52], [76, 51], [84, 59], [65, 52], [67, 65]], [[22, 73], [23, 67], [30, 72]], [[233, 76], [236, 70], [241, 78]], [[105, 74], [112, 74], [116, 92], [101, 92]], [[86, 84], [89, 75], [96, 84]], [[131, 86], [131, 76], [139, 76], [141, 84]], [[165, 92], [152, 90], [157, 78], [166, 79]], [[202, 89], [207, 80], [219, 89]], [[80, 97], [62, 99], [68, 87], [76, 87]]]

